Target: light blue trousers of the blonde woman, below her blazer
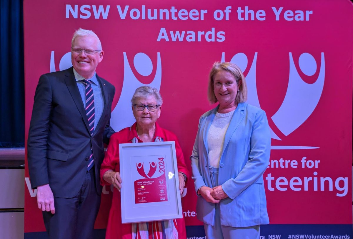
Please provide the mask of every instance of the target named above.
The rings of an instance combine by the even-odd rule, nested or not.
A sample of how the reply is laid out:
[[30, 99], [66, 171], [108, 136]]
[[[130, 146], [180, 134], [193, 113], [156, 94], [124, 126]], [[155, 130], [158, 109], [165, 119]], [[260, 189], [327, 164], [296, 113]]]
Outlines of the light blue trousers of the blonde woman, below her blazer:
[[[218, 186], [218, 168], [210, 166], [212, 187]], [[260, 225], [228, 227], [221, 225], [220, 204], [216, 204], [214, 226], [204, 224], [207, 239], [259, 239]]]

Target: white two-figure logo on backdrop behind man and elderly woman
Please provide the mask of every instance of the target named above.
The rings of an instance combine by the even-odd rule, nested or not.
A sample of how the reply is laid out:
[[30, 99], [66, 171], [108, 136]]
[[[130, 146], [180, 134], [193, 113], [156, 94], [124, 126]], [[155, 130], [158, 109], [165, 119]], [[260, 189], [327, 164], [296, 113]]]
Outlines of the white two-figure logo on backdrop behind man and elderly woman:
[[[153, 70], [153, 64], [149, 56], [139, 52], [133, 59], [133, 65], [136, 71], [142, 76], [149, 76]], [[72, 67], [71, 64], [71, 52], [67, 52], [61, 57], [59, 63], [59, 69], [65, 70]], [[50, 55], [50, 72], [56, 71], [54, 62], [54, 51]], [[110, 126], [118, 132], [122, 128], [131, 126], [135, 119], [133, 118], [131, 111], [131, 97], [135, 92], [136, 88], [140, 86], [150, 86], [160, 89], [162, 81], [162, 66], [160, 52], [157, 52], [157, 69], [153, 81], [150, 84], [141, 83], [137, 77], [133, 74], [130, 64], [127, 60], [126, 52], [124, 52], [124, 81], [122, 83], [122, 90], [119, 101], [111, 114]]]

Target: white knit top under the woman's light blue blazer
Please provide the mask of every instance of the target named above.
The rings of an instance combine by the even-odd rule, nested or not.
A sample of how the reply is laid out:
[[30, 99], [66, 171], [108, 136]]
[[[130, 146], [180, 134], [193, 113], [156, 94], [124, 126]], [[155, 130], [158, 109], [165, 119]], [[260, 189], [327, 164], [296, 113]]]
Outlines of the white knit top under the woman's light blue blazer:
[[226, 114], [216, 112], [215, 118], [212, 121], [210, 130], [207, 135], [209, 163], [211, 166], [218, 168], [221, 160], [224, 138], [228, 126], [231, 122], [234, 111]]

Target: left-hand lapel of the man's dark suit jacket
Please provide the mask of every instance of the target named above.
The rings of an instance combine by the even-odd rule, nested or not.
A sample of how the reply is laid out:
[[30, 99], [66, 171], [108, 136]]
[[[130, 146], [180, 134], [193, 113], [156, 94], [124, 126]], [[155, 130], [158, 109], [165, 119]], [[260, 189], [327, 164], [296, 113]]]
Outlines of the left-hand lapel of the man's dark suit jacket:
[[80, 92], [78, 90], [77, 83], [76, 83], [72, 68], [67, 70], [67, 74], [65, 75], [65, 83], [68, 88], [68, 91], [70, 92], [70, 94], [72, 96], [73, 101], [76, 104], [78, 111], [80, 112], [80, 114], [83, 118], [83, 122], [85, 122], [85, 126], [87, 128], [87, 131], [90, 132], [88, 120], [87, 120], [87, 115], [86, 115], [86, 110], [83, 106], [82, 98], [81, 98]]

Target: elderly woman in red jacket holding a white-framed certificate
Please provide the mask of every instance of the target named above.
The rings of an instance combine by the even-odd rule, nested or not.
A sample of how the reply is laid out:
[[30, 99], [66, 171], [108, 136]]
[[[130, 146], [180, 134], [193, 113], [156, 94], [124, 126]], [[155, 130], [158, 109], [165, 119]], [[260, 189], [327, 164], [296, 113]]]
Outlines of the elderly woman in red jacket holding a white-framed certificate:
[[[139, 87], [136, 89], [131, 103], [136, 122], [132, 126], [124, 128], [111, 136], [107, 153], [101, 166], [102, 185], [114, 185], [106, 239], [148, 239], [149, 236], [152, 238], [151, 234], [153, 234], [153, 238], [186, 238], [184, 218], [157, 222], [140, 222], [137, 224], [121, 224], [120, 189], [122, 181], [119, 173], [119, 144], [175, 141], [180, 194], [184, 190], [188, 178], [187, 175], [189, 175], [177, 137], [174, 133], [160, 127], [156, 123], [160, 117], [163, 103], [158, 90], [149, 86]], [[157, 226], [152, 227], [152, 224]]]

